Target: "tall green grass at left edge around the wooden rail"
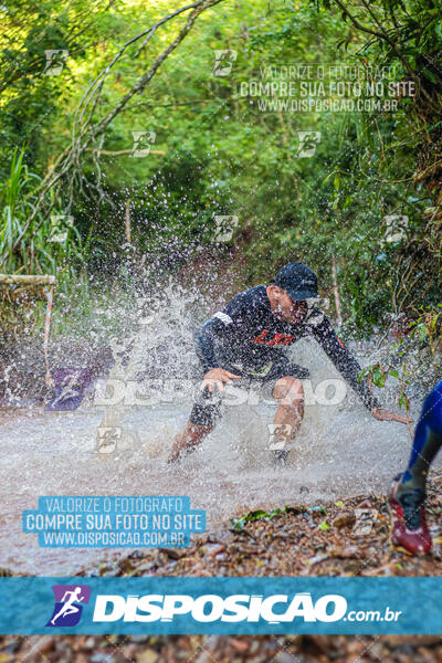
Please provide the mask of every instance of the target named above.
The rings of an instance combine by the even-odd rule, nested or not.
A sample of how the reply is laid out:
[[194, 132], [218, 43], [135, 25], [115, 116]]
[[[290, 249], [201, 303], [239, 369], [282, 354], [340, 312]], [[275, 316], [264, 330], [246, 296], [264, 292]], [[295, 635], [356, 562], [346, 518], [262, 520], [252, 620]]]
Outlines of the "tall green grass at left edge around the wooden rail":
[[[57, 201], [53, 201], [55, 204], [50, 217], [35, 214], [17, 244], [27, 220], [35, 209], [36, 188], [41, 182], [41, 178], [30, 172], [23, 162], [23, 149], [14, 150], [9, 177], [0, 183], [0, 272], [13, 275], [53, 274], [56, 277], [56, 296], [66, 298], [75, 284], [87, 282], [85, 244], [74, 224], [65, 224], [62, 233], [56, 231], [54, 217], [64, 214]], [[76, 293], [76, 301], [84, 309], [88, 308], [85, 302], [88, 298], [87, 287]], [[40, 334], [45, 313], [41, 286], [23, 288], [0, 285], [0, 302], [3, 332], [14, 336], [22, 332]], [[66, 325], [69, 327], [69, 320]]]

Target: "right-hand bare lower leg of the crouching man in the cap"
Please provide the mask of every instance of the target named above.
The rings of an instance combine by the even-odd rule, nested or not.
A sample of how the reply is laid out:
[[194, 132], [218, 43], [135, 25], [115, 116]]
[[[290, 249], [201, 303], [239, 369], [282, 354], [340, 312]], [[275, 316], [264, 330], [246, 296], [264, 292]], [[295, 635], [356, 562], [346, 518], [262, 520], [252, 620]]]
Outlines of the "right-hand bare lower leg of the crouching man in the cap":
[[274, 418], [274, 441], [276, 460], [285, 461], [288, 451], [285, 446], [295, 438], [304, 417], [304, 388], [298, 378], [280, 378], [273, 390], [273, 398], [280, 403]]

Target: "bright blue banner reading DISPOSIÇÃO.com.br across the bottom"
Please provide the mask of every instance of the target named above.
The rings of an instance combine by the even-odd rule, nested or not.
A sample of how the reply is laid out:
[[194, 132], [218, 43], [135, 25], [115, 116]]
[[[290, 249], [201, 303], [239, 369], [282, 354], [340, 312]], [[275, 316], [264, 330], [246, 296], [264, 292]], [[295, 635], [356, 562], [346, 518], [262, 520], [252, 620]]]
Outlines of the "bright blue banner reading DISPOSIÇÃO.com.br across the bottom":
[[442, 634], [442, 578], [1, 578], [0, 633]]

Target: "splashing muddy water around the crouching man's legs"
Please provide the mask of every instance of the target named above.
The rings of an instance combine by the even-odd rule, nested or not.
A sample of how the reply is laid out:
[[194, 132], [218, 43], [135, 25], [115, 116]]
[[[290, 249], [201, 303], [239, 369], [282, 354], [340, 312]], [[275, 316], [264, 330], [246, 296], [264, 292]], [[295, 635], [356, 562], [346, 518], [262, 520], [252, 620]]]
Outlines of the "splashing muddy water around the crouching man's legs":
[[[168, 465], [199, 380], [192, 333], [208, 317], [207, 305], [169, 283], [160, 298], [141, 297], [138, 306], [115, 315], [128, 316], [133, 332], [109, 338], [115, 365], [77, 411], [3, 412], [1, 566], [69, 575], [122, 552], [39, 548], [36, 535], [21, 532], [21, 513], [36, 508], [41, 495], [188, 495], [192, 508], [207, 511], [210, 527], [240, 511], [382, 494], [407, 463], [407, 427], [376, 421], [348, 387], [341, 402], [307, 401], [283, 469], [272, 465], [269, 450], [267, 425], [276, 404], [255, 401], [225, 407], [203, 444], [179, 465]], [[352, 344], [352, 351], [361, 364], [373, 360], [372, 347]], [[340, 377], [314, 340], [298, 341], [291, 355], [309, 368], [314, 393], [323, 380]], [[383, 394], [378, 396], [382, 402]], [[414, 419], [419, 404], [419, 399], [412, 403]]]

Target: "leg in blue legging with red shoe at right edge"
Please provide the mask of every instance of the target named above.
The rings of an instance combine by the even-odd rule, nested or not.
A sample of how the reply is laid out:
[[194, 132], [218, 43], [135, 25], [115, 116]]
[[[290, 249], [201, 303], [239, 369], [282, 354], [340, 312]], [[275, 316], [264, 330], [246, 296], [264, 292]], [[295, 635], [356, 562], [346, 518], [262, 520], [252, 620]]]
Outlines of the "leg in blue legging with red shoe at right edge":
[[423, 401], [408, 467], [393, 478], [389, 493], [391, 540], [394, 546], [401, 546], [409, 552], [431, 550], [431, 536], [423, 505], [427, 475], [441, 446], [442, 380]]

